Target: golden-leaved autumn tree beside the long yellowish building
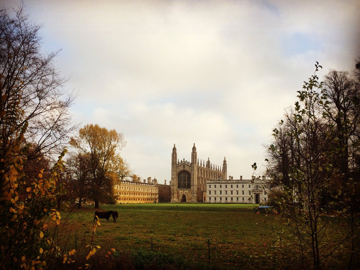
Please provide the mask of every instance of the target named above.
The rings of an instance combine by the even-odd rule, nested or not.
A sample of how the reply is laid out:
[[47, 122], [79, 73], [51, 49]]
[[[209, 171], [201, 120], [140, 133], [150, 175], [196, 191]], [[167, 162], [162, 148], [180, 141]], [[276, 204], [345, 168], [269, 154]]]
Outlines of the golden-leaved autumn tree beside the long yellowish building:
[[99, 125], [86, 125], [71, 144], [87, 158], [95, 208], [99, 208], [99, 202], [114, 201], [116, 172], [123, 171], [125, 165], [117, 154], [126, 145], [123, 134]]

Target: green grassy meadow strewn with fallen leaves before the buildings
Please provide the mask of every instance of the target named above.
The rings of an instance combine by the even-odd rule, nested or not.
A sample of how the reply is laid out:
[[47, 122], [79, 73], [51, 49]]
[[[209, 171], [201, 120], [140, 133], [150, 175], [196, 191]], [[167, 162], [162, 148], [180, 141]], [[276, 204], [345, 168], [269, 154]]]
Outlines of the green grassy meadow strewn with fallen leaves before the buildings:
[[[253, 204], [149, 203], [102, 205], [119, 212], [117, 222], [100, 219], [92, 238], [94, 206], [74, 210], [67, 247], [78, 255], [100, 246], [93, 269], [296, 269], [296, 250], [278, 245], [274, 215]], [[76, 233], [76, 235], [75, 235]], [[76, 241], [75, 241], [76, 238]], [[92, 241], [92, 242], [91, 242]], [[115, 249], [115, 252], [111, 251]], [[111, 255], [106, 257], [108, 252]], [[210, 258], [210, 260], [209, 260]], [[310, 266], [311, 268], [311, 266]]]

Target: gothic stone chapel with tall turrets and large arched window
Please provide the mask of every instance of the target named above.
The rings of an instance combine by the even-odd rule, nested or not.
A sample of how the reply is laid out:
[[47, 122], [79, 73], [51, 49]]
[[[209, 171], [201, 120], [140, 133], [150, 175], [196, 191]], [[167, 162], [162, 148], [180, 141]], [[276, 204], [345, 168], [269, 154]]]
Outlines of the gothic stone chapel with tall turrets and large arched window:
[[226, 160], [221, 167], [210, 164], [208, 158], [199, 163], [197, 158], [195, 143], [191, 152], [191, 162], [185, 158], [181, 161], [177, 159], [176, 148], [172, 148], [171, 157], [171, 202], [205, 202], [206, 201], [206, 181], [225, 180]]

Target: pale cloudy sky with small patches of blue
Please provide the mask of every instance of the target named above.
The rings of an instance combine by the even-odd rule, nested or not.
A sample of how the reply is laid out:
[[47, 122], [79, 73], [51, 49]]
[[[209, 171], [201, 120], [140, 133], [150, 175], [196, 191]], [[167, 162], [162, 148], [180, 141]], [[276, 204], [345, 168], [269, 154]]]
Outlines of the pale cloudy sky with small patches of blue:
[[[73, 122], [123, 133], [141, 179], [171, 180], [171, 153], [228, 176], [265, 173], [266, 145], [315, 71], [351, 71], [360, 1], [23, 0], [42, 49], [77, 93]], [[0, 1], [1, 7], [21, 4]]]

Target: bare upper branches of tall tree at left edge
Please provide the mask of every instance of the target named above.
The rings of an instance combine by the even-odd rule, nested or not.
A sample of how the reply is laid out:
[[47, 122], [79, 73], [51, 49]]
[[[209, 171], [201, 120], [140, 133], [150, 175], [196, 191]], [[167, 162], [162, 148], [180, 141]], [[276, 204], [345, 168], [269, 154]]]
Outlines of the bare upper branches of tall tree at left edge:
[[22, 144], [33, 148], [27, 159], [44, 155], [54, 158], [68, 143], [69, 132], [76, 128], [69, 124], [68, 111], [74, 96], [66, 94], [65, 80], [53, 65], [58, 53], [41, 53], [40, 27], [28, 19], [22, 7], [15, 12], [12, 18], [7, 10], [0, 10], [0, 108], [18, 115], [18, 106], [23, 117], [17, 118], [15, 127], [10, 125], [10, 118], [2, 118], [0, 136], [3, 141], [12, 138], [12, 128], [21, 129], [27, 122]]

